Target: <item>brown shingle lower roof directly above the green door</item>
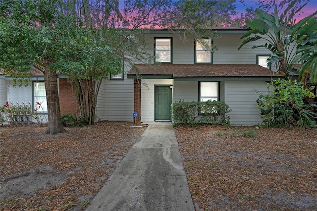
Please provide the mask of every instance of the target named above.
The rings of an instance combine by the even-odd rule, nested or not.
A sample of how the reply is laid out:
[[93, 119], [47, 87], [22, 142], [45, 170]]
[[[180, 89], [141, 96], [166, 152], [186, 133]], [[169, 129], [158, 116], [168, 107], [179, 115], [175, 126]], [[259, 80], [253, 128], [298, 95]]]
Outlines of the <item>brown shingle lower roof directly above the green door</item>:
[[127, 74], [134, 78], [137, 73], [148, 78], [281, 77], [258, 64], [135, 64]]

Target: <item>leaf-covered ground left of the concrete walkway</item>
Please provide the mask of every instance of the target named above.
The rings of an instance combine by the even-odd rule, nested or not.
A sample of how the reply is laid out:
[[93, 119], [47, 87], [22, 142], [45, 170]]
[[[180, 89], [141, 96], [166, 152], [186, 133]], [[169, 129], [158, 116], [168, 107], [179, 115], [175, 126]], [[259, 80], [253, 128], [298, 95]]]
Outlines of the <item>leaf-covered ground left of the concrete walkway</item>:
[[45, 134], [0, 127], [0, 210], [83, 210], [142, 135], [132, 122], [98, 122]]

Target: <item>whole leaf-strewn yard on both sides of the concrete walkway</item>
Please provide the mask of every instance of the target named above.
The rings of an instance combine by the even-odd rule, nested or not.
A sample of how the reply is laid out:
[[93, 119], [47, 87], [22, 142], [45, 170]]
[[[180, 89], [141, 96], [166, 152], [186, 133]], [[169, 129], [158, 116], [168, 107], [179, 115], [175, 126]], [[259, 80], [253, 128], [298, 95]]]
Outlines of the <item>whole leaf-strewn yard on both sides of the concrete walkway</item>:
[[[146, 128], [0, 127], [0, 210], [84, 210]], [[196, 210], [317, 210], [317, 130], [175, 127]]]

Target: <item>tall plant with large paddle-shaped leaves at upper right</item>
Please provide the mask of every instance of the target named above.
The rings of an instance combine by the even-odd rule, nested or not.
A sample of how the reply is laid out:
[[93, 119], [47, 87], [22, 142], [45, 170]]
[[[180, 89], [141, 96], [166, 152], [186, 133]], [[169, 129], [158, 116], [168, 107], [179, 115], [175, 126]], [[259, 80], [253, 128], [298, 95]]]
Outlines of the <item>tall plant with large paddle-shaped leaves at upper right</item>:
[[[245, 44], [260, 39], [267, 43], [264, 45], [254, 46], [252, 48], [265, 48], [272, 55], [267, 59], [268, 65], [275, 64], [279, 73], [288, 76], [296, 62], [296, 42], [303, 39], [304, 35], [317, 29], [317, 11], [313, 14], [296, 22], [294, 14], [299, 12], [306, 4], [295, 10], [292, 8], [296, 0], [278, 16], [277, 6], [274, 7], [274, 15], [256, 9], [255, 13], [258, 18], [247, 20], [246, 24], [251, 28], [240, 39], [243, 40], [239, 46], [240, 50]], [[289, 15], [287, 15], [289, 14]], [[250, 37], [251, 35], [254, 35]]]

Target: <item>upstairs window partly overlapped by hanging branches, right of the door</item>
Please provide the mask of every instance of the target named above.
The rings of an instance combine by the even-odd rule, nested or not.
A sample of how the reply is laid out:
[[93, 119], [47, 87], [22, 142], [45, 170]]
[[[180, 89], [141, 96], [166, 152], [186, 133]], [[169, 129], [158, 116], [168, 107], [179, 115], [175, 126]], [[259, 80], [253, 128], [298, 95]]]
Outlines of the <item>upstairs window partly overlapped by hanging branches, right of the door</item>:
[[211, 39], [202, 39], [195, 42], [195, 62], [212, 63]]

